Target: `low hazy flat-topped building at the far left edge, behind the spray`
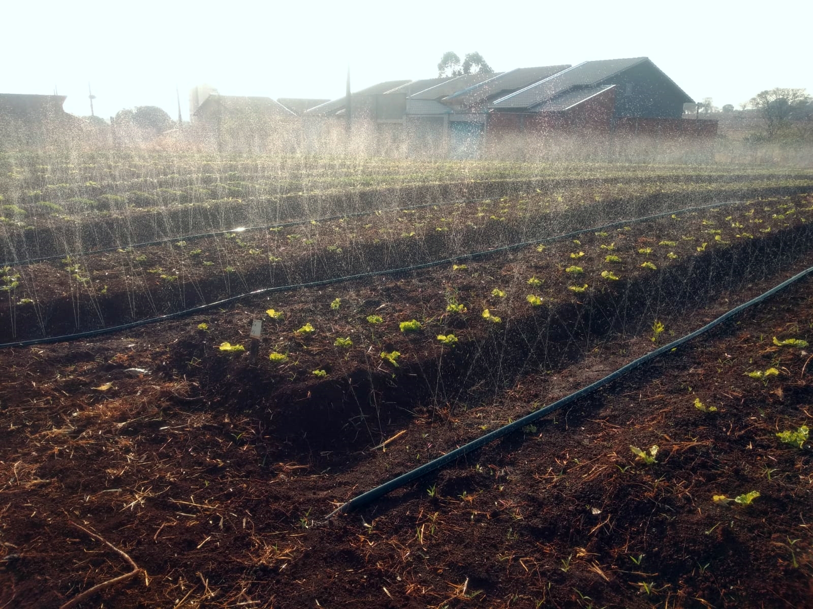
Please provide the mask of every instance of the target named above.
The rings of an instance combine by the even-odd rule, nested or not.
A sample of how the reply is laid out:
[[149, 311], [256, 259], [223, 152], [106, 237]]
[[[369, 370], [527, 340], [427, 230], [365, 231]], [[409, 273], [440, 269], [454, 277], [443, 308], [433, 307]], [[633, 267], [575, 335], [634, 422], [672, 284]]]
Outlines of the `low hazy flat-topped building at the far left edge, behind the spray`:
[[0, 93], [0, 144], [47, 145], [89, 131], [63, 110], [64, 95]]

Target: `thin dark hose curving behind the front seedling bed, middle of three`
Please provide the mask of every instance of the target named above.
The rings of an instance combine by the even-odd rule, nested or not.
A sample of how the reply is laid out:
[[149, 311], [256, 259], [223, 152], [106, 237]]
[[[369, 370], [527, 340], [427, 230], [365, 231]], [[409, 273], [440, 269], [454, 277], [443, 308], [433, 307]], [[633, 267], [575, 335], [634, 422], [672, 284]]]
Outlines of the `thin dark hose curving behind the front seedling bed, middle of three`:
[[381, 275], [388, 275], [388, 274], [399, 274], [399, 273], [409, 273], [414, 270], [423, 270], [429, 269], [433, 266], [440, 266], [443, 264], [449, 264], [450, 262], [456, 262], [460, 260], [473, 260], [474, 258], [480, 258], [484, 256], [489, 256], [494, 253], [501, 253], [501, 252], [508, 252], [512, 249], [519, 249], [525, 248], [530, 245], [537, 245], [537, 244], [544, 244], [544, 243], [552, 243], [554, 241], [562, 240], [562, 239], [570, 239], [571, 237], [576, 237], [578, 235], [584, 235], [585, 233], [589, 232], [598, 232], [603, 231], [607, 228], [614, 228], [614, 227], [621, 227], [625, 224], [633, 224], [635, 222], [647, 222], [649, 220], [657, 220], [659, 218], [666, 218], [667, 216], [677, 215], [677, 214], [688, 214], [693, 211], [698, 211], [701, 209], [710, 209], [715, 207], [724, 207], [727, 205], [738, 205], [746, 203], [746, 201], [726, 201], [724, 203], [711, 203], [709, 205], [699, 205], [698, 207], [685, 207], [684, 209], [676, 209], [674, 211], [665, 211], [661, 214], [654, 214], [651, 216], [643, 216], [641, 218], [635, 218], [633, 220], [619, 220], [618, 222], [611, 222], [610, 224], [604, 224], [600, 227], [592, 227], [592, 228], [582, 228], [578, 231], [572, 231], [566, 233], [564, 235], [556, 235], [553, 237], [545, 237], [544, 239], [537, 239], [533, 241], [523, 241], [521, 243], [510, 244], [510, 245], [503, 245], [499, 248], [493, 249], [486, 249], [482, 252], [475, 252], [475, 253], [466, 253], [461, 254], [459, 256], [453, 256], [450, 258], [443, 258], [441, 260], [433, 260], [431, 262], [423, 262], [419, 265], [413, 266], [404, 266], [399, 269], [385, 269], [385, 270], [371, 270], [367, 273], [359, 273], [354, 275], [345, 275], [344, 277], [334, 277], [332, 279], [321, 279], [320, 281], [311, 281], [309, 283], [293, 283], [287, 286], [275, 286], [275, 287], [262, 287], [259, 290], [254, 290], [253, 292], [246, 292], [245, 294], [238, 294], [237, 296], [229, 296], [228, 298], [224, 298], [223, 300], [217, 300], [216, 302], [208, 303], [208, 304], [200, 304], [197, 307], [193, 307], [192, 309], [185, 309], [184, 311], [176, 311], [175, 313], [167, 313], [166, 315], [159, 315], [158, 317], [150, 317], [149, 319], [140, 319], [137, 322], [130, 322], [125, 323], [120, 326], [111, 326], [109, 328], [99, 328], [98, 330], [88, 330], [86, 332], [79, 332], [77, 334], [71, 335], [63, 335], [63, 336], [50, 336], [41, 339], [28, 339], [28, 340], [20, 340], [15, 341], [12, 343], [2, 343], [0, 344], [0, 349], [10, 348], [10, 347], [30, 347], [31, 345], [35, 344], [47, 344], [47, 343], [63, 343], [69, 340], [78, 340], [78, 339], [88, 339], [92, 338], [93, 336], [100, 336], [105, 334], [112, 334], [114, 332], [120, 332], [122, 330], [132, 330], [133, 328], [137, 328], [139, 326], [146, 326], [151, 323], [159, 323], [159, 322], [167, 322], [171, 319], [176, 319], [178, 317], [186, 317], [187, 315], [193, 315], [195, 313], [202, 313], [207, 309], [213, 309], [215, 307], [223, 306], [224, 304], [231, 304], [233, 302], [237, 302], [237, 300], [241, 300], [243, 298], [247, 298], [249, 296], [262, 296], [263, 294], [271, 294], [272, 292], [290, 292], [292, 290], [299, 290], [299, 289], [307, 289], [311, 287], [321, 287], [330, 285], [332, 283], [341, 283], [345, 281], [354, 281], [357, 279], [367, 279], [369, 277], [378, 277]]

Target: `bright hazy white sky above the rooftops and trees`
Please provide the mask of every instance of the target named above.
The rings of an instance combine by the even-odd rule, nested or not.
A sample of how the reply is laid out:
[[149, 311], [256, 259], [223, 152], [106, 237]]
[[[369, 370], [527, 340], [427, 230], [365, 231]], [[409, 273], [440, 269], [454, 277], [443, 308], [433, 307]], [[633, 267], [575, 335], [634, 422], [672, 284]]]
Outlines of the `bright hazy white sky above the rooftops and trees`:
[[[523, 8], [523, 4], [525, 7]], [[813, 2], [38, 2], [0, 0], [0, 93], [67, 95], [96, 114], [161, 106], [189, 89], [339, 97], [437, 76], [447, 50], [496, 71], [646, 56], [695, 100], [735, 107], [774, 87], [813, 93]]]

